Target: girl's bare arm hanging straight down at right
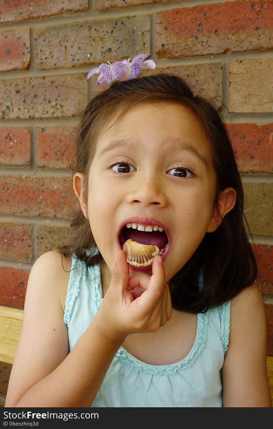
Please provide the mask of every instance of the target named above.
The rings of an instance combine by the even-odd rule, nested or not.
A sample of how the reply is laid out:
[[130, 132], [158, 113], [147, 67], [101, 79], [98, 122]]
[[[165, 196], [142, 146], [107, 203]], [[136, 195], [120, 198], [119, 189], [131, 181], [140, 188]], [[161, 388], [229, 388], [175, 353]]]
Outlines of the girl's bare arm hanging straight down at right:
[[223, 407], [272, 407], [266, 346], [263, 296], [252, 285], [231, 300], [229, 345], [222, 368]]

